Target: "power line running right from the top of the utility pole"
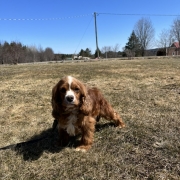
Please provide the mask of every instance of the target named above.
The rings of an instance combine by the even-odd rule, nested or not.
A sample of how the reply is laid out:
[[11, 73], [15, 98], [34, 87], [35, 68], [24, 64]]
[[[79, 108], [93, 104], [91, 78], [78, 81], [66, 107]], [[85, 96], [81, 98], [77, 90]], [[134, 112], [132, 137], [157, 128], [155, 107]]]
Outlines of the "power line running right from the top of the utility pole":
[[113, 15], [113, 16], [180, 16], [180, 14], [119, 14], [119, 13], [97, 13], [98, 15]]

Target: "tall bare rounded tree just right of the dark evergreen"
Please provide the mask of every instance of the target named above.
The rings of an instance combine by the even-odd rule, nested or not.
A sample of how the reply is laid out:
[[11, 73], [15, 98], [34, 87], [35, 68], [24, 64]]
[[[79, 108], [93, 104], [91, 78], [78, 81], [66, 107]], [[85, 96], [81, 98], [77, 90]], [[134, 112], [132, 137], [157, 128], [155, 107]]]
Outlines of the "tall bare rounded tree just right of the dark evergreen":
[[142, 56], [144, 56], [145, 50], [150, 48], [154, 40], [154, 27], [149, 18], [141, 18], [134, 27], [134, 32], [139, 39]]

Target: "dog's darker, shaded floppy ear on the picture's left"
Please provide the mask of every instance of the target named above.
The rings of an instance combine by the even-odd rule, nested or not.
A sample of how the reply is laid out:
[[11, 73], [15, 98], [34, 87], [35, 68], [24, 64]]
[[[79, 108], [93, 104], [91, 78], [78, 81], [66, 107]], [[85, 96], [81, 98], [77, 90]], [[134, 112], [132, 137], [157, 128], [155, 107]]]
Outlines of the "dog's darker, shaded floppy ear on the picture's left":
[[52, 99], [51, 99], [51, 105], [53, 109], [52, 116], [56, 119], [58, 119], [58, 117], [61, 114], [61, 104], [62, 104], [62, 100], [59, 94], [59, 83], [57, 83], [52, 89]]

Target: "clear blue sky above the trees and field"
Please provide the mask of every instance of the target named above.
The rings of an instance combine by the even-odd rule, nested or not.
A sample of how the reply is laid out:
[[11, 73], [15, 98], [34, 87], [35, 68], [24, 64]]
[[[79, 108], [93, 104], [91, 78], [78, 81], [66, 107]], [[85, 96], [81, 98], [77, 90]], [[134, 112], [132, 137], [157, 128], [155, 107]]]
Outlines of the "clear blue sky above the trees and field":
[[[94, 12], [180, 15], [179, 5], [179, 0], [0, 0], [0, 42], [51, 47], [55, 53], [79, 53], [86, 48], [94, 53]], [[176, 18], [99, 14], [99, 48], [119, 44], [122, 50], [135, 23], [142, 17], [151, 19], [156, 38], [163, 29], [169, 29]], [[33, 20], [27, 20], [30, 18]]]

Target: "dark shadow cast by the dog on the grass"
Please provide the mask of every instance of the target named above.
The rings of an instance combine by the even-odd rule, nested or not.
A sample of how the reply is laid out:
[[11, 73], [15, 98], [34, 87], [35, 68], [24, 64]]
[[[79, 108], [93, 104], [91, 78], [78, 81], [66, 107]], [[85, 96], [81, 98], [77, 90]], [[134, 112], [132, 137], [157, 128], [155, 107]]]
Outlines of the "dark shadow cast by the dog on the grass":
[[[56, 121], [53, 127], [41, 132], [38, 135], [31, 137], [28, 141], [18, 143], [13, 148], [18, 154], [23, 155], [25, 161], [34, 161], [41, 157], [44, 151], [51, 153], [58, 153], [65, 147], [58, 145], [58, 131], [56, 128]], [[96, 132], [101, 131], [109, 126], [114, 126], [113, 123], [96, 124]], [[78, 137], [70, 139], [68, 147], [75, 147], [77, 145]], [[67, 147], [66, 146], [66, 147]]]

